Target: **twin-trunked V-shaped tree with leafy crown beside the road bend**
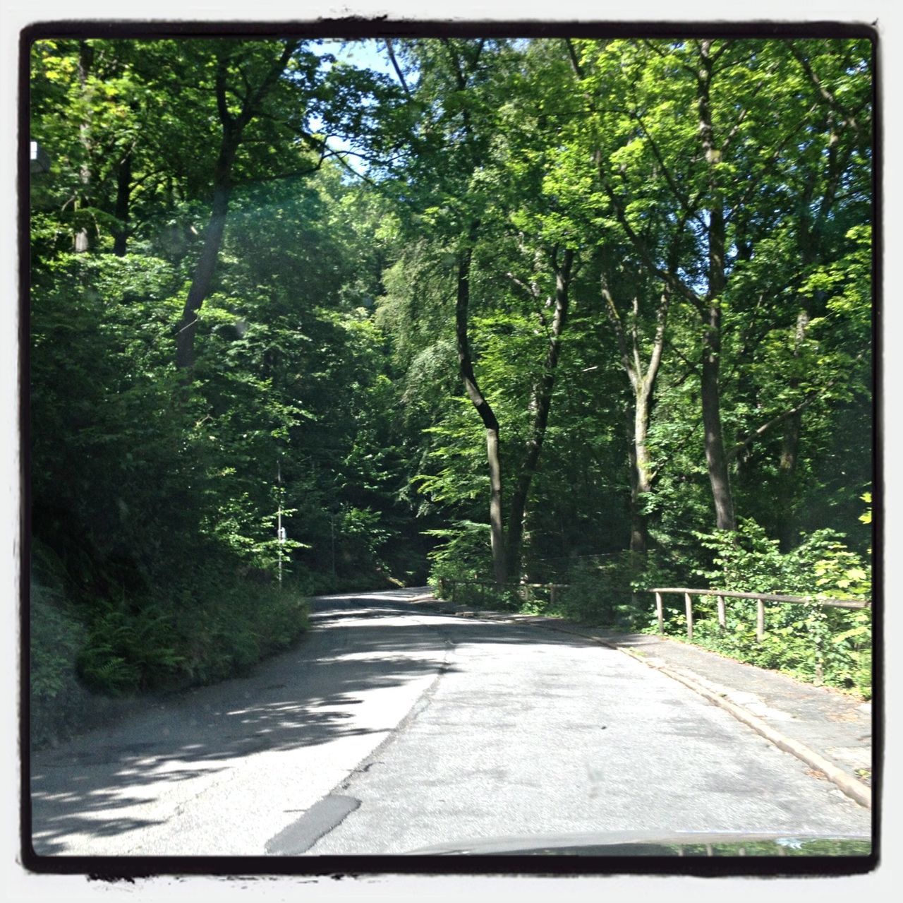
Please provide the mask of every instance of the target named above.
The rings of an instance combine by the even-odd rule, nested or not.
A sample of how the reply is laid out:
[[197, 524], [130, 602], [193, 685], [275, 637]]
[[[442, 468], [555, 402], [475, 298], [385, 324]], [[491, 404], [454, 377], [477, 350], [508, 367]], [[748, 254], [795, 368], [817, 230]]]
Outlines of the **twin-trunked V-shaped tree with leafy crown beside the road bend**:
[[[545, 441], [570, 286], [578, 268], [575, 249], [573, 239], [569, 244], [556, 234], [553, 201], [544, 194], [548, 136], [517, 126], [522, 106], [512, 94], [532, 90], [518, 74], [523, 55], [505, 42], [451, 39], [402, 50], [419, 76], [416, 91], [406, 81], [405, 91], [425, 111], [415, 139], [417, 157], [412, 170], [405, 172], [405, 185], [417, 179], [422, 190], [430, 186], [427, 196], [433, 205], [422, 215], [433, 235], [456, 245], [455, 350], [464, 390], [485, 431], [490, 547], [493, 572], [501, 584], [521, 569], [526, 508]], [[392, 56], [404, 79], [394, 50]], [[527, 199], [537, 192], [541, 200], [531, 206]], [[498, 252], [499, 247], [505, 250]], [[473, 350], [476, 315], [471, 296], [477, 268], [484, 308], [502, 298], [511, 304], [509, 293], [493, 277], [507, 280], [517, 287], [520, 304], [526, 301], [530, 315], [538, 315], [546, 336], [545, 347], [536, 348], [541, 363], [530, 368], [529, 416], [518, 451], [504, 440], [496, 404], [489, 398], [501, 387], [485, 388], [489, 368], [480, 365]], [[547, 320], [546, 298], [553, 308]], [[479, 369], [483, 376], [478, 376]], [[511, 421], [509, 426], [515, 438], [517, 428]], [[508, 473], [504, 481], [503, 469]], [[506, 484], [511, 486], [507, 499]], [[430, 485], [436, 488], [434, 481]]]

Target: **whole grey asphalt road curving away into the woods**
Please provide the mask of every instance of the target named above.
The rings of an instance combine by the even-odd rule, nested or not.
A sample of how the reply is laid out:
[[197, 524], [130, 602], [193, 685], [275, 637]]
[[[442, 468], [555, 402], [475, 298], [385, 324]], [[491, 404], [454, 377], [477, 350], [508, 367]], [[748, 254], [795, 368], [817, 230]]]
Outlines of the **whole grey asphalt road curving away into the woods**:
[[39, 855], [316, 855], [574, 832], [870, 831], [682, 684], [580, 637], [315, 600], [249, 677], [33, 756]]

